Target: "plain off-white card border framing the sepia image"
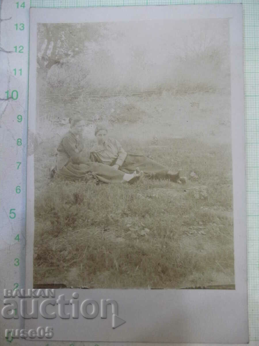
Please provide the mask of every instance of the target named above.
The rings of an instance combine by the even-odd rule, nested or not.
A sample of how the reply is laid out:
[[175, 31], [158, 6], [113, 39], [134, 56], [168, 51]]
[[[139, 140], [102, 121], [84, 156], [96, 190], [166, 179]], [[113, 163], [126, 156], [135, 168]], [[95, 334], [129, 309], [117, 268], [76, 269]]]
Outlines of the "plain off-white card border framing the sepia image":
[[[112, 328], [108, 318], [38, 319], [26, 325], [54, 328], [53, 340], [152, 343], [248, 343], [246, 159], [242, 51], [242, 5], [180, 5], [115, 8], [30, 9], [28, 130], [36, 132], [37, 23], [80, 23], [153, 19], [229, 18], [235, 290], [56, 289], [72, 299], [79, 294], [98, 302], [113, 299], [126, 321]], [[28, 136], [29, 138], [29, 136]], [[28, 153], [29, 154], [29, 153]], [[33, 288], [34, 158], [27, 159], [26, 289]], [[39, 298], [42, 299], [42, 298]], [[79, 305], [80, 306], [80, 305]], [[62, 323], [61, 323], [62, 322]], [[30, 329], [29, 328], [29, 329]], [[28, 329], [28, 328], [27, 328]], [[51, 340], [52, 340], [51, 339]], [[35, 340], [35, 339], [34, 339]], [[42, 340], [42, 339], [41, 339]]]

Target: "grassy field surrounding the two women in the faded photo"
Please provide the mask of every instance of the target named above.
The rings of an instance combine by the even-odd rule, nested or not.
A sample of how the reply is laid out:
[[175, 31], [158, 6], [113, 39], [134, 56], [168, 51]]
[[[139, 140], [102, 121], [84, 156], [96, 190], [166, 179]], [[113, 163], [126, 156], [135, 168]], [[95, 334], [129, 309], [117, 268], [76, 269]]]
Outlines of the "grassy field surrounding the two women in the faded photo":
[[[34, 283], [88, 288], [234, 284], [229, 92], [40, 99]], [[183, 169], [186, 185], [49, 178], [66, 117], [102, 121], [126, 151]], [[65, 118], [65, 120], [61, 120]]]

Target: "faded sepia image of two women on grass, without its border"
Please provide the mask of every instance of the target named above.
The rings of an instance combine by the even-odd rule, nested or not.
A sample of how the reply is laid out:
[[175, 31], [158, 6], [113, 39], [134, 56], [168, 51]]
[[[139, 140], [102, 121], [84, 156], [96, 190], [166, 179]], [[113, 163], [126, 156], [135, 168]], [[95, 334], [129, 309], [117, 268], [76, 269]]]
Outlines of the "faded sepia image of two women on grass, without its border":
[[229, 20], [37, 24], [35, 286], [235, 289]]

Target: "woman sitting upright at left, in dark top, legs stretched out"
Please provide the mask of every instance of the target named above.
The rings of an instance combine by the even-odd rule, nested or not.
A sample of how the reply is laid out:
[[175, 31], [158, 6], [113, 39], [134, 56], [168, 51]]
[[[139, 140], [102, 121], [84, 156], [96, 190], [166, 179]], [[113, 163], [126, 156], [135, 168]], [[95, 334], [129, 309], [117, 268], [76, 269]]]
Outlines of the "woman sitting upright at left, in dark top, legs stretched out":
[[83, 131], [85, 121], [81, 118], [69, 119], [70, 131], [62, 138], [56, 153], [55, 172], [71, 179], [88, 180], [89, 173], [94, 173], [97, 179], [104, 183], [133, 183], [141, 176], [136, 169], [131, 174], [114, 170], [103, 163], [89, 161], [84, 148]]

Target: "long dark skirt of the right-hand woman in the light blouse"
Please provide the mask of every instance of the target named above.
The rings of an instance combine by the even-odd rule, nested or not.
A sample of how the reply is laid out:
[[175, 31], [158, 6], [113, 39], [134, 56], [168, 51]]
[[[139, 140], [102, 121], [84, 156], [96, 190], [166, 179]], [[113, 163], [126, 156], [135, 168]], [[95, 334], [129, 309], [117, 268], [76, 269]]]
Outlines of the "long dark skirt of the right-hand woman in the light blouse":
[[144, 175], [148, 178], [166, 179], [169, 177], [169, 169], [167, 167], [156, 163], [144, 155], [138, 155], [135, 153], [127, 153], [120, 170], [125, 173], [132, 173], [137, 167], [143, 171]]

